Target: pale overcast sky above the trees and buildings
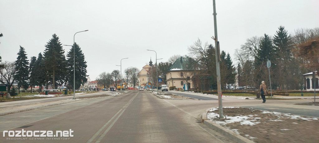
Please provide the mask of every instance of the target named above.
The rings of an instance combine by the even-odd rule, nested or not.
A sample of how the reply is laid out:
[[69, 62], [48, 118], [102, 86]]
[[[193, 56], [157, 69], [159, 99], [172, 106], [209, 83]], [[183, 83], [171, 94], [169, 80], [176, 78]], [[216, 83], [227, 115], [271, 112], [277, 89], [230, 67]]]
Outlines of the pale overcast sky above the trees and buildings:
[[[216, 0], [220, 50], [234, 50], [252, 36], [273, 36], [319, 26], [318, 0]], [[214, 45], [212, 0], [0, 0], [0, 56], [15, 61], [19, 45], [38, 56], [56, 33], [64, 45], [79, 44], [91, 80], [120, 67], [142, 68], [155, 50], [158, 62], [189, 55], [197, 38]], [[70, 46], [63, 46], [65, 54]], [[233, 59], [234, 60], [234, 59]], [[235, 61], [234, 61], [235, 63]]]

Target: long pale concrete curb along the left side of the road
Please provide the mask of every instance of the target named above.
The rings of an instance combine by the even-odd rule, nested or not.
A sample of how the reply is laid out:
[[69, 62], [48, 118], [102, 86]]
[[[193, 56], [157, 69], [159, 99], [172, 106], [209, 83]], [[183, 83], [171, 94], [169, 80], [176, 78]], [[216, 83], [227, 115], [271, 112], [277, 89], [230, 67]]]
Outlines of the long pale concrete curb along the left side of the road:
[[[107, 96], [107, 97], [114, 97], [114, 96], [117, 96], [117, 95]], [[44, 108], [44, 107], [49, 107], [49, 106], [54, 106], [54, 105], [66, 104], [66, 103], [75, 102], [75, 101], [79, 101], [79, 100], [96, 99], [96, 98], [104, 98], [104, 97], [83, 98], [83, 99], [76, 99], [76, 100], [64, 99], [64, 100], [69, 100], [69, 101], [64, 101], [64, 102], [54, 103], [54, 104], [48, 104], [48, 105], [42, 105], [42, 106], [37, 106], [37, 107], [31, 107], [31, 108], [26, 108], [26, 109], [11, 111], [11, 112], [4, 112], [4, 113], [0, 113], [0, 116], [9, 115], [9, 114], [14, 114], [14, 113], [19, 113], [19, 112], [23, 112], [23, 111], [34, 110], [34, 109], [39, 109], [39, 108]], [[59, 101], [59, 100], [58, 100], [58, 101]], [[63, 101], [63, 100], [62, 100], [62, 101]]]

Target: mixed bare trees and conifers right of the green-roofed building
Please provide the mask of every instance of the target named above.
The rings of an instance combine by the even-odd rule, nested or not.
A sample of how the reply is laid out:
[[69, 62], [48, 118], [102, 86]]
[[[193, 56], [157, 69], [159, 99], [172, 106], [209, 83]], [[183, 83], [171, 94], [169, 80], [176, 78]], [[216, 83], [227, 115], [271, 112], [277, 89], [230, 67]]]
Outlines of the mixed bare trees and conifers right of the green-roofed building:
[[[309, 57], [307, 53], [303, 53], [300, 56], [303, 51], [300, 45], [318, 38], [319, 28], [297, 29], [288, 34], [284, 26], [279, 26], [274, 36], [264, 34], [248, 38], [235, 51], [234, 61], [237, 62], [237, 67], [234, 67], [229, 54], [221, 51], [221, 83], [225, 87], [226, 84], [235, 84], [237, 81], [239, 86], [250, 85], [257, 88], [262, 81], [269, 83], [266, 66], [269, 59], [272, 89], [300, 89], [303, 84], [301, 82], [304, 81], [302, 74], [315, 71], [316, 68], [311, 65], [318, 64], [318, 58], [311, 58], [317, 54]], [[225, 47], [221, 47], [223, 48]], [[217, 89], [215, 47], [207, 42], [203, 44], [198, 39], [188, 50], [198, 63], [197, 75], [212, 77], [211, 87]]]

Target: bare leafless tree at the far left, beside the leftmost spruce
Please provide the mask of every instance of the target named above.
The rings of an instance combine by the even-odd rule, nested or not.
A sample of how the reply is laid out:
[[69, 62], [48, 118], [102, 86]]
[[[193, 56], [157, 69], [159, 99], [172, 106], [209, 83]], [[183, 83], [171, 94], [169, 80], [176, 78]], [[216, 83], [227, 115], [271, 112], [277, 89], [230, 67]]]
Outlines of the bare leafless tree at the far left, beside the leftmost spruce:
[[14, 62], [5, 61], [3, 64], [3, 68], [0, 68], [0, 82], [7, 83], [8, 85], [8, 92], [14, 82], [14, 73], [16, 72], [14, 69]]

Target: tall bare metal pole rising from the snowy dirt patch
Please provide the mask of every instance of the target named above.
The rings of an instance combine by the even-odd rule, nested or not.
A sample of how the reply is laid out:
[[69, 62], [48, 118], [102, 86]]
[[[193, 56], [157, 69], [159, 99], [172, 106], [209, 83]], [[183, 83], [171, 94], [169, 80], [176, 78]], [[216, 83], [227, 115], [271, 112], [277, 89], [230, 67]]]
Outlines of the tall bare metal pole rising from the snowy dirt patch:
[[213, 9], [214, 9], [214, 29], [215, 29], [215, 38], [213, 38], [215, 40], [215, 54], [216, 54], [216, 74], [217, 74], [217, 92], [218, 92], [218, 112], [219, 112], [219, 118], [223, 119], [224, 115], [223, 115], [223, 104], [222, 104], [222, 97], [221, 97], [221, 83], [220, 83], [220, 68], [219, 68], [219, 61], [220, 61], [220, 57], [219, 57], [219, 42], [217, 39], [217, 22], [216, 22], [216, 7], [215, 7], [215, 0], [213, 0]]

